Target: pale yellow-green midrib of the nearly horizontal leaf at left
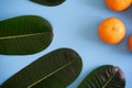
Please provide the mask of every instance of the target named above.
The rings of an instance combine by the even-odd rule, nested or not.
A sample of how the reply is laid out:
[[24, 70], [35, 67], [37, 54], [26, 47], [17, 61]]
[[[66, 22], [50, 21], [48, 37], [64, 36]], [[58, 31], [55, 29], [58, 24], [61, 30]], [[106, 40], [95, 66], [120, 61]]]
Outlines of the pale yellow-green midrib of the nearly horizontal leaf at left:
[[0, 40], [18, 38], [18, 37], [28, 37], [28, 36], [41, 35], [41, 34], [44, 34], [44, 33], [35, 33], [35, 34], [24, 34], [24, 35], [4, 36], [4, 37], [0, 37]]

